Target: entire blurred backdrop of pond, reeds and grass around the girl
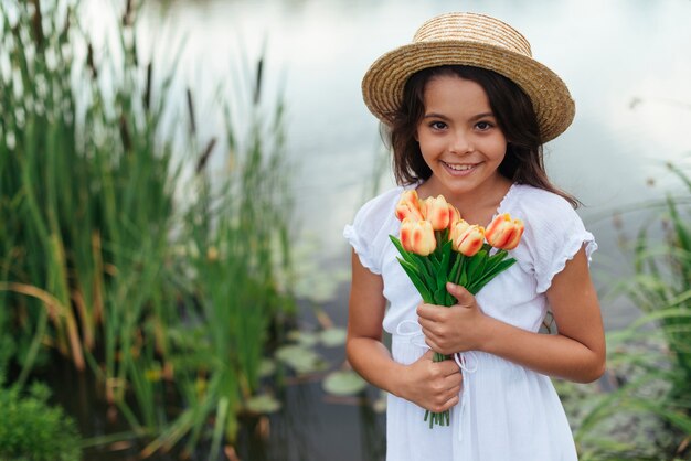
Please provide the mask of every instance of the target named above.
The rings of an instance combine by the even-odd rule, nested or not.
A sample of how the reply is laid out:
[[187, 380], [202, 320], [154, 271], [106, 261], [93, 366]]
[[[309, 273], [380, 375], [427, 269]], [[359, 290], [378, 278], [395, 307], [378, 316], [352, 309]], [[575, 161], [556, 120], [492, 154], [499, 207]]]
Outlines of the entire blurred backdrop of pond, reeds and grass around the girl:
[[[384, 459], [343, 351], [342, 229], [394, 185], [360, 82], [464, 10], [576, 101], [545, 154], [599, 244], [610, 369], [559, 383], [582, 459], [691, 459], [688, 0], [3, 0], [12, 415], [65, 411], [24, 418], [73, 433], [64, 459]], [[6, 421], [0, 459], [40, 444]]]

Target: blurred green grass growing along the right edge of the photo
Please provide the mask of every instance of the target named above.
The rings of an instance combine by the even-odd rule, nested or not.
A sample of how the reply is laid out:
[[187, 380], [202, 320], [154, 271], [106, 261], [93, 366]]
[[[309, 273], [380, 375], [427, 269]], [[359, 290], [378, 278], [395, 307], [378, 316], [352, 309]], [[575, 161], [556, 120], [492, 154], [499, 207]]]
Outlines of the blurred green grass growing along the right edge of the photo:
[[[578, 430], [587, 459], [691, 459], [691, 180], [669, 195], [665, 214], [645, 226], [631, 248], [634, 275], [624, 292], [642, 315], [608, 335], [617, 389], [600, 396]], [[602, 438], [610, 431], [610, 438]]]

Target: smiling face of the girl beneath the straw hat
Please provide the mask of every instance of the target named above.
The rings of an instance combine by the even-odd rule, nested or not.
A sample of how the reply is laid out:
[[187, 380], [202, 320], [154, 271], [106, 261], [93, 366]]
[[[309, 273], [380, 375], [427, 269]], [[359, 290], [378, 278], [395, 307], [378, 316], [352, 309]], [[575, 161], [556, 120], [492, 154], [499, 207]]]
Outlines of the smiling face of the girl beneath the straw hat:
[[442, 75], [427, 82], [424, 101], [416, 139], [432, 170], [429, 191], [450, 200], [492, 195], [495, 186], [507, 181], [497, 170], [507, 139], [485, 89], [476, 82]]

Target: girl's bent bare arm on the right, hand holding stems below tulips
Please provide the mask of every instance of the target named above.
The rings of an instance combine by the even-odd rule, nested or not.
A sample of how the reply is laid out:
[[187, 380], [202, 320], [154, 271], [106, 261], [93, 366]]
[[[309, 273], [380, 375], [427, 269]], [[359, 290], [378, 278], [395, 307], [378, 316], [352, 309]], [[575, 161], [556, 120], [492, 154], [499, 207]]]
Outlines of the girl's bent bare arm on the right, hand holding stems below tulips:
[[[546, 291], [556, 334], [532, 333], [483, 314], [463, 287], [448, 283], [458, 304], [421, 304], [419, 323], [435, 351], [483, 351], [539, 373], [589, 383], [605, 372], [605, 333], [585, 249], [555, 275]], [[507, 293], [510, 296], [510, 293]]]

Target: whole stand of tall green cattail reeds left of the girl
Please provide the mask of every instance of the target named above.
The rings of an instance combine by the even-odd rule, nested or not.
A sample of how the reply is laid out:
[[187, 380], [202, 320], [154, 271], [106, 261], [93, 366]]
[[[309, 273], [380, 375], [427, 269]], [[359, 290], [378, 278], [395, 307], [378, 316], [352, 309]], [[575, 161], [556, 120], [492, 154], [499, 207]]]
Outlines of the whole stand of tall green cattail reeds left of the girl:
[[163, 121], [176, 69], [138, 54], [136, 7], [95, 50], [78, 2], [0, 4], [0, 368], [19, 365], [23, 384], [53, 351], [88, 365], [150, 454], [182, 438], [192, 450], [213, 415], [214, 443], [232, 441], [291, 308], [290, 196], [283, 104], [266, 117], [262, 63], [246, 107], [216, 107], [234, 156], [212, 181], [214, 142], [193, 150], [192, 130], [174, 143]]

